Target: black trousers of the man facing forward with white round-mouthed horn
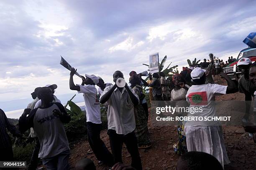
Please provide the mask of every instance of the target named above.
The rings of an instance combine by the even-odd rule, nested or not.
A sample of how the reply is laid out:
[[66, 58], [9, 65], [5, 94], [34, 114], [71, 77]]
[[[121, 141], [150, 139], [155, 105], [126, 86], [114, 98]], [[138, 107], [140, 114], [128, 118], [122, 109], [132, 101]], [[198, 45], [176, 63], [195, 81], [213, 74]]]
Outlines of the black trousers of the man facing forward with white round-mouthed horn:
[[114, 162], [121, 162], [123, 143], [125, 143], [128, 152], [131, 154], [131, 166], [136, 170], [142, 170], [141, 157], [138, 152], [137, 139], [134, 132], [128, 134], [117, 134], [115, 130], [108, 129], [111, 150], [114, 156]]

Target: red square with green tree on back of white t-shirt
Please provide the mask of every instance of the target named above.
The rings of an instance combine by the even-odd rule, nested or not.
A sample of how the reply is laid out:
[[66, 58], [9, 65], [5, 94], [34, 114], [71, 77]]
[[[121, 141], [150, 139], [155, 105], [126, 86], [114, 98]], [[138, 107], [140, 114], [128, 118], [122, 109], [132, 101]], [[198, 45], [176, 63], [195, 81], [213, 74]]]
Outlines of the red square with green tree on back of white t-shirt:
[[189, 93], [189, 102], [191, 105], [207, 105], [207, 93], [206, 91]]

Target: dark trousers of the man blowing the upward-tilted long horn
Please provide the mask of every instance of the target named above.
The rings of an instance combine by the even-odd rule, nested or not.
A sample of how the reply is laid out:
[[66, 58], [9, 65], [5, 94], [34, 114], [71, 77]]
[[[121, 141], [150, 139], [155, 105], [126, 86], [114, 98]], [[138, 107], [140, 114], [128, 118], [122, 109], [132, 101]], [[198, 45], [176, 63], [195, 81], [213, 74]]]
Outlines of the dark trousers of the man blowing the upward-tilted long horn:
[[92, 148], [92, 152], [100, 160], [109, 166], [114, 165], [113, 155], [108, 151], [105, 143], [100, 139], [100, 126], [92, 122], [86, 122], [88, 142]]

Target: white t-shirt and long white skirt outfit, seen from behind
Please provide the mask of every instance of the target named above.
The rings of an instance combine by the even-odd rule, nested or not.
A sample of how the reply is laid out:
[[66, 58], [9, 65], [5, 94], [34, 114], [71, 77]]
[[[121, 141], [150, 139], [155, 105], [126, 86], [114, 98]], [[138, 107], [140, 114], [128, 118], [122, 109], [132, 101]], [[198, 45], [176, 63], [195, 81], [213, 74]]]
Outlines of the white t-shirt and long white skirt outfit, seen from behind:
[[[195, 116], [215, 116], [215, 95], [226, 94], [227, 86], [218, 84], [192, 85], [187, 91], [187, 101], [190, 107], [202, 107], [202, 112]], [[200, 101], [195, 101], [195, 95]], [[193, 114], [188, 114], [193, 116]], [[214, 156], [223, 166], [230, 163], [225, 148], [223, 131], [218, 121], [187, 121], [184, 127], [187, 141], [187, 150], [206, 152]]]

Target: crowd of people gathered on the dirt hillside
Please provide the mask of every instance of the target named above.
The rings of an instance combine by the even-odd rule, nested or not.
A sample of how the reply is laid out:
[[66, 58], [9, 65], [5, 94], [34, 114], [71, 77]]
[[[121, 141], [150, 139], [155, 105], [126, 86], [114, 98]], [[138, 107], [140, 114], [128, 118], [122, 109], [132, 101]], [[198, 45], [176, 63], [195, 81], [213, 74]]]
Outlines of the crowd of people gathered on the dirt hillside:
[[[73, 76], [76, 69], [72, 68], [69, 77], [69, 88], [82, 93], [86, 105], [87, 137], [90, 147], [99, 161], [110, 169], [142, 170], [139, 149], [150, 149], [153, 145], [148, 132], [148, 104], [143, 93], [143, 86], [148, 87], [148, 96], [151, 107], [153, 101], [172, 101], [187, 104], [189, 107], [203, 106], [201, 116], [215, 116], [215, 95], [236, 93], [245, 94], [245, 101], [256, 98], [256, 63], [249, 58], [241, 58], [237, 67], [243, 76], [235, 81], [222, 72], [223, 67], [232, 63], [233, 57], [228, 62], [214, 59], [209, 54], [210, 62], [204, 62], [196, 67], [185, 68], [180, 74], [174, 74], [172, 81], [166, 80], [163, 72], [149, 74], [148, 80], [141, 78], [141, 74], [131, 71], [129, 84], [118, 87], [118, 78], [124, 79], [121, 71], [113, 74], [113, 84], [105, 83], [104, 80], [95, 75], [85, 74], [82, 76], [82, 84], [74, 84]], [[228, 86], [215, 84], [214, 76], [221, 76], [227, 81]], [[95, 85], [99, 88], [96, 89]], [[67, 114], [61, 101], [54, 95], [56, 84], [37, 87], [31, 96], [33, 101], [28, 104], [20, 116], [18, 129], [8, 122], [8, 119], [0, 110], [0, 150], [5, 155], [0, 155], [0, 161], [12, 161], [13, 150], [10, 137], [6, 129], [22, 141], [22, 134], [30, 129], [30, 140], [34, 141], [34, 150], [28, 170], [35, 170], [38, 158], [49, 170], [69, 169], [70, 148], [64, 124], [69, 123], [71, 116]], [[195, 102], [194, 95], [202, 98]], [[107, 107], [108, 136], [110, 150], [100, 139], [101, 113], [100, 104]], [[249, 124], [251, 104], [246, 103], [246, 113], [243, 122]], [[254, 104], [256, 112], [256, 102]], [[193, 114], [187, 114], [193, 117]], [[254, 117], [256, 121], [256, 116]], [[213, 168], [222, 170], [225, 164], [230, 163], [224, 145], [221, 124], [218, 121], [187, 121], [178, 127], [177, 144], [174, 150], [182, 155], [178, 161], [177, 169], [188, 169], [189, 165], [199, 166], [202, 169]], [[249, 133], [255, 133], [255, 126], [245, 126]], [[255, 140], [254, 136], [254, 140]], [[255, 140], [256, 141], [256, 140]], [[131, 166], [123, 165], [122, 150], [123, 143], [131, 155]], [[200, 157], [202, 159], [200, 159]], [[204, 160], [204, 161], [202, 161]], [[208, 163], [207, 163], [208, 162]], [[216, 162], [216, 163], [212, 163]], [[211, 166], [210, 166], [211, 165]], [[208, 166], [208, 168], [206, 168]], [[210, 166], [210, 167], [209, 167]], [[93, 170], [94, 162], [83, 158], [76, 167], [79, 169]], [[195, 168], [195, 167], [194, 167]]]

